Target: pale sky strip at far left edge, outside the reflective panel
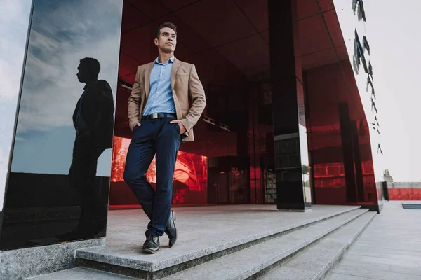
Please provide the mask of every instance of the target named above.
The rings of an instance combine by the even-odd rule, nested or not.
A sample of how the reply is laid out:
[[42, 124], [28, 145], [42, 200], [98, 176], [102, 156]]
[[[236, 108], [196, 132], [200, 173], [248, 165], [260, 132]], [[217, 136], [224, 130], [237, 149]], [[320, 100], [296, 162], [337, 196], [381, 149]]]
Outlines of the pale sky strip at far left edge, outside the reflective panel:
[[31, 8], [32, 1], [0, 3], [0, 216], [3, 214]]

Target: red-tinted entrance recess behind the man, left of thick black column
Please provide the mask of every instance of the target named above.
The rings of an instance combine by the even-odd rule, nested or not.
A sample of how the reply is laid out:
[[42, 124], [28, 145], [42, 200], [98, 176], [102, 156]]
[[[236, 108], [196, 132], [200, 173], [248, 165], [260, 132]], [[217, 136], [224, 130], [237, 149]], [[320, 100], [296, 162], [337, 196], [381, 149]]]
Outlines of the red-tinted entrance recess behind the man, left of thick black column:
[[[173, 205], [273, 203], [261, 180], [274, 174], [267, 3], [123, 1], [110, 207], [137, 204], [123, 181], [127, 99], [137, 67], [158, 56], [153, 41], [163, 22], [178, 27], [175, 57], [196, 66], [207, 102], [195, 141], [180, 146]], [[154, 186], [154, 161], [146, 176]]]

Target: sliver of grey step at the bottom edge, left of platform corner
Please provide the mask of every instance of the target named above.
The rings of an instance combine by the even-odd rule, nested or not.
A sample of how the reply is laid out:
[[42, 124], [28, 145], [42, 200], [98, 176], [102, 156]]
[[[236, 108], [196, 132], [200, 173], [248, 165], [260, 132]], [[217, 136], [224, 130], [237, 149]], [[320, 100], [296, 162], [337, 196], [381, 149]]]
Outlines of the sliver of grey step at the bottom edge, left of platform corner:
[[31, 280], [133, 280], [136, 278], [123, 276], [119, 274], [102, 272], [86, 267], [76, 267], [65, 269], [60, 272], [54, 272], [46, 275], [27, 278]]

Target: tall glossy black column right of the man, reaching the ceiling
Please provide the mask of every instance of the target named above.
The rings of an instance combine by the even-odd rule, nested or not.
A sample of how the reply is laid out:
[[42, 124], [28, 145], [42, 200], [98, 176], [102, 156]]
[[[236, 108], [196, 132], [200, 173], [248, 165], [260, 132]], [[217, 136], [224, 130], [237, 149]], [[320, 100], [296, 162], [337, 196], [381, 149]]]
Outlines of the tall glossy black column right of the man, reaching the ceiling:
[[274, 125], [277, 208], [305, 211], [311, 206], [302, 68], [295, 0], [269, 0], [269, 42]]

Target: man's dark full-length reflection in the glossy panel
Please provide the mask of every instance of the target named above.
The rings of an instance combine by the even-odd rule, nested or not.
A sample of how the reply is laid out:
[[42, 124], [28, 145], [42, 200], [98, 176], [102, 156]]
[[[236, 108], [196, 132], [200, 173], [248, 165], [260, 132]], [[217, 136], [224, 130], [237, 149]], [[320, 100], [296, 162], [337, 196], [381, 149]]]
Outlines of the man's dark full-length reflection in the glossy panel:
[[77, 228], [60, 239], [95, 237], [105, 230], [107, 201], [100, 199], [100, 188], [95, 184], [98, 158], [112, 148], [114, 100], [107, 81], [98, 80], [100, 62], [83, 58], [77, 68], [77, 78], [85, 83], [83, 94], [73, 113], [76, 138], [69, 183], [81, 197], [81, 216]]

